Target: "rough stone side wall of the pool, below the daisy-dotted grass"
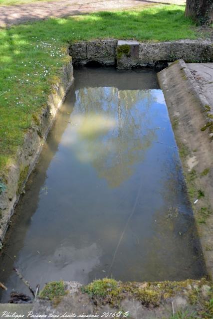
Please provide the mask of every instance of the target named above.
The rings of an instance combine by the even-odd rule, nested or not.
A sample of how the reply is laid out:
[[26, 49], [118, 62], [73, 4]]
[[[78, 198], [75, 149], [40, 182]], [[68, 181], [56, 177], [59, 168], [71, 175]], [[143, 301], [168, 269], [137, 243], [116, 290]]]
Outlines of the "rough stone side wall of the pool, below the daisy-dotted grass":
[[15, 164], [8, 167], [6, 190], [0, 195], [0, 248], [9, 226], [14, 207], [30, 175], [53, 124], [56, 113], [62, 105], [73, 83], [72, 59], [62, 68], [57, 83], [52, 85], [52, 93], [39, 117], [34, 117], [34, 125], [25, 134], [23, 145], [18, 149]]

